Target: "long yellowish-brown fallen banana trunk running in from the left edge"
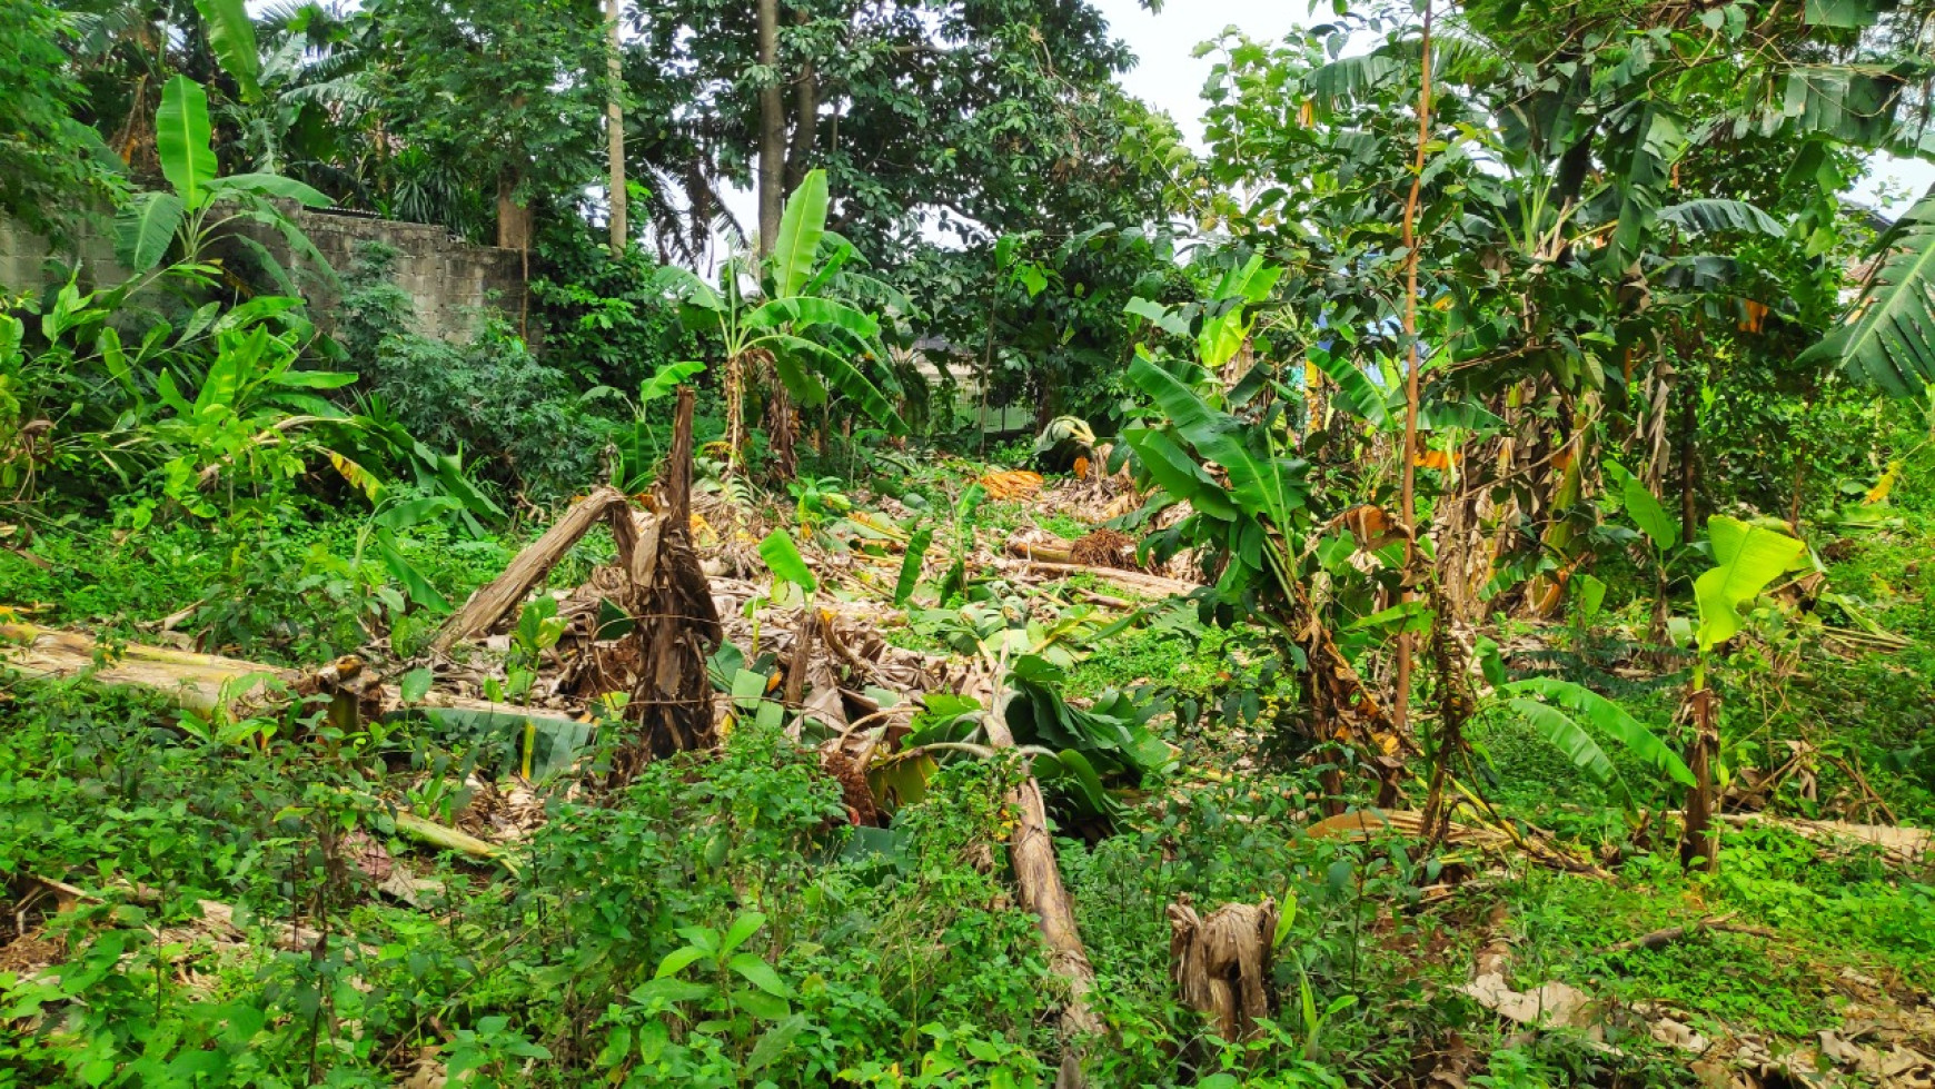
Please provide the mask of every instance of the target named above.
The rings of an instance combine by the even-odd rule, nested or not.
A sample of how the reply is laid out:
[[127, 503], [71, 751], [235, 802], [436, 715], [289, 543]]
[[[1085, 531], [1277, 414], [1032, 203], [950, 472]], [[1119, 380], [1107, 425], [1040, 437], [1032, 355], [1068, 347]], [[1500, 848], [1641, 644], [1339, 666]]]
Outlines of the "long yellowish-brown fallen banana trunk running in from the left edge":
[[[244, 708], [263, 710], [302, 694], [304, 689], [331, 689], [348, 669], [339, 660], [315, 671], [284, 669], [219, 654], [195, 654], [172, 646], [130, 642], [122, 646], [95, 642], [77, 631], [45, 629], [39, 625], [0, 625], [0, 663], [41, 681], [87, 677], [110, 689], [149, 689], [170, 698], [178, 708], [199, 716], [236, 716]], [[410, 710], [395, 685], [372, 685], [370, 702], [379, 714]], [[470, 716], [517, 716], [519, 721], [579, 725], [569, 712], [534, 710], [493, 704], [451, 692], [430, 691], [412, 708], [466, 712]]]

